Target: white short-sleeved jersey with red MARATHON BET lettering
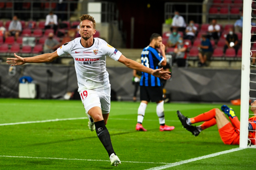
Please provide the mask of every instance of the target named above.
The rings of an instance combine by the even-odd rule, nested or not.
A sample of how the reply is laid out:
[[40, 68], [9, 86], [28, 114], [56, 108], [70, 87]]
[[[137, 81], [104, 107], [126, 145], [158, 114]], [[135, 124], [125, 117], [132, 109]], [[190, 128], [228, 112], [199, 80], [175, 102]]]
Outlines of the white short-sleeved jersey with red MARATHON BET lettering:
[[100, 38], [94, 38], [93, 45], [85, 48], [79, 37], [59, 47], [57, 54], [74, 58], [78, 87], [90, 90], [109, 84], [106, 56], [117, 61], [122, 53]]

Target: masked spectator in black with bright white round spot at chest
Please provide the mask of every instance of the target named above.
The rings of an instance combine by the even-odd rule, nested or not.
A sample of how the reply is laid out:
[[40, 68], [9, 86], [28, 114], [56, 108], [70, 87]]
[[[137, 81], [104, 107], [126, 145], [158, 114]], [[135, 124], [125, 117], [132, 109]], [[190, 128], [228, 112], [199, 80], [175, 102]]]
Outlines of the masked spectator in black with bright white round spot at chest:
[[229, 28], [229, 34], [227, 34], [227, 37], [226, 37], [226, 44], [224, 46], [223, 53], [226, 53], [226, 50], [228, 48], [234, 48], [236, 50], [236, 55], [237, 55], [237, 51], [239, 49], [238, 37], [234, 33], [233, 28]]

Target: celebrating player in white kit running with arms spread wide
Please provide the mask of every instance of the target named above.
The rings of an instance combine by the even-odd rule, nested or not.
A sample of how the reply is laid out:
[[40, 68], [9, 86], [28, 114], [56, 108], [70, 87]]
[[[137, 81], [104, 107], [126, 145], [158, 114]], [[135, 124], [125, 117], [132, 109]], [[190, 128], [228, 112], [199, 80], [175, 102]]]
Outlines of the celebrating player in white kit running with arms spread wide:
[[78, 91], [88, 116], [88, 126], [96, 133], [108, 152], [111, 165], [117, 166], [121, 161], [114, 152], [110, 134], [106, 128], [110, 112], [110, 84], [106, 70], [106, 56], [126, 65], [128, 68], [152, 74], [163, 79], [170, 79], [170, 72], [163, 69], [150, 69], [136, 61], [126, 58], [120, 51], [107, 44], [100, 38], [93, 38], [95, 34], [95, 20], [92, 16], [84, 14], [80, 17], [79, 34], [76, 38], [59, 47], [53, 53], [22, 58], [14, 53], [15, 58], [7, 58], [11, 66], [25, 63], [52, 62], [64, 54], [70, 54], [75, 60]]

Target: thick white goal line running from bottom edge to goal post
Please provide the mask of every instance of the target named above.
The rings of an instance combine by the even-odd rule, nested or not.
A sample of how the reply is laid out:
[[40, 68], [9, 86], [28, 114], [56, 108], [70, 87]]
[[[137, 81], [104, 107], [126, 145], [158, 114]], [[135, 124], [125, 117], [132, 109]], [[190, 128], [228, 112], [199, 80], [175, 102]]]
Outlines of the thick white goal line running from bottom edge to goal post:
[[166, 168], [170, 168], [170, 167], [175, 167], [177, 165], [186, 164], [188, 162], [193, 162], [193, 161], [198, 161], [198, 160], [201, 160], [201, 159], [215, 157], [215, 156], [218, 156], [218, 155], [222, 155], [222, 154], [225, 154], [225, 153], [230, 153], [230, 152], [234, 152], [234, 151], [238, 151], [238, 150], [242, 150], [242, 149], [245, 149], [245, 148], [239, 148], [238, 147], [238, 148], [234, 148], [234, 149], [230, 149], [230, 150], [225, 150], [225, 151], [221, 151], [221, 152], [217, 152], [217, 153], [213, 153], [213, 154], [209, 154], [209, 155], [205, 155], [205, 156], [200, 156], [200, 157], [197, 157], [197, 158], [192, 158], [192, 159], [188, 159], [188, 160], [184, 160], [184, 161], [170, 163], [170, 164], [163, 165], [163, 166], [160, 166], [160, 167], [150, 168], [150, 169], [147, 169], [147, 170], [166, 169]]

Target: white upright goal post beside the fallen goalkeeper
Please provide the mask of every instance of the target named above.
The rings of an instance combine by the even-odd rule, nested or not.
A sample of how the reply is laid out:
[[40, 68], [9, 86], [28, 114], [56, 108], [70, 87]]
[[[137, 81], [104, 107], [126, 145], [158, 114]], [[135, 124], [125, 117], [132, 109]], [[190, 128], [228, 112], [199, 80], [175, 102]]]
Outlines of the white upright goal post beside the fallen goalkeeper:
[[250, 92], [250, 56], [251, 56], [251, 15], [252, 0], [243, 2], [243, 46], [241, 68], [241, 116], [240, 116], [240, 148], [248, 143], [249, 92]]

